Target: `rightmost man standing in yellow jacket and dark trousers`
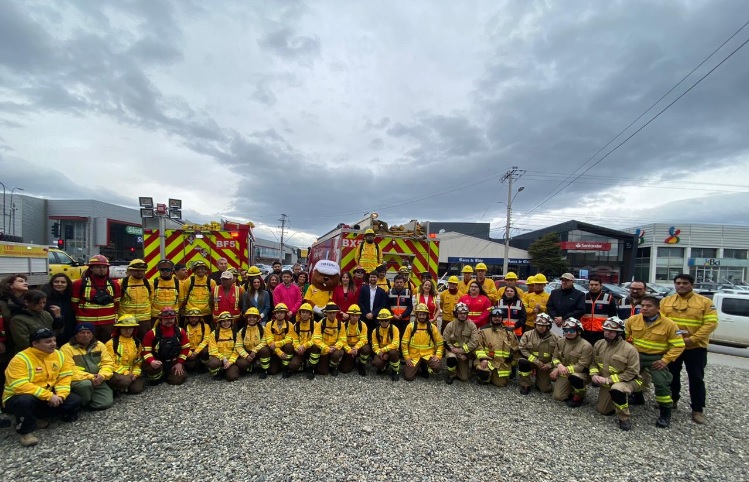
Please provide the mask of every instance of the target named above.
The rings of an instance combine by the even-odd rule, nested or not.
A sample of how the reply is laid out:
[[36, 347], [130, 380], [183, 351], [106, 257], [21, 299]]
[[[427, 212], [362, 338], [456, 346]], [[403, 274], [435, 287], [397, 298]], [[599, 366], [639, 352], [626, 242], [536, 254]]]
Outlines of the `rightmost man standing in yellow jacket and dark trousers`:
[[707, 345], [710, 333], [718, 327], [718, 312], [710, 298], [698, 295], [692, 289], [694, 277], [680, 274], [674, 279], [676, 293], [663, 298], [661, 313], [676, 323], [684, 337], [684, 351], [675, 362], [668, 366], [674, 379], [671, 382], [671, 396], [674, 406], [681, 397], [681, 367], [686, 365], [689, 377], [689, 398], [692, 408], [692, 421], [705, 423], [705, 367], [707, 366]]

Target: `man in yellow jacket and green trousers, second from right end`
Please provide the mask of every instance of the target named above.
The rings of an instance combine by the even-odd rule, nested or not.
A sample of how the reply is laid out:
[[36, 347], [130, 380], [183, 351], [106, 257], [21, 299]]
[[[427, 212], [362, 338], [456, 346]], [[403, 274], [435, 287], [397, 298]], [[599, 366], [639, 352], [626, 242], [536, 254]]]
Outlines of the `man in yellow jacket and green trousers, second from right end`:
[[[668, 370], [668, 365], [676, 361], [684, 351], [684, 339], [676, 323], [658, 312], [659, 304], [658, 298], [645, 296], [640, 302], [640, 313], [627, 318], [624, 333], [639, 353], [640, 372], [649, 372], [655, 387], [655, 401], [660, 409], [655, 425], [666, 428], [671, 425], [673, 408], [673, 375]], [[636, 405], [645, 403], [642, 391], [638, 390], [633, 398]]]

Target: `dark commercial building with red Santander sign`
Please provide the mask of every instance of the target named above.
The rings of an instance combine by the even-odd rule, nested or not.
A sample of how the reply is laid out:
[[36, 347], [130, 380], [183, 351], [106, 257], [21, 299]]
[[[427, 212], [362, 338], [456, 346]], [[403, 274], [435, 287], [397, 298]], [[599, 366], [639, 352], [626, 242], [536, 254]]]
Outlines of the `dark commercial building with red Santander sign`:
[[[576, 277], [598, 276], [604, 283], [615, 284], [631, 279], [635, 255], [633, 233], [571, 220], [517, 235], [510, 240], [510, 245], [528, 250], [548, 233], [559, 235], [562, 254]], [[538, 272], [532, 261], [531, 272]]]

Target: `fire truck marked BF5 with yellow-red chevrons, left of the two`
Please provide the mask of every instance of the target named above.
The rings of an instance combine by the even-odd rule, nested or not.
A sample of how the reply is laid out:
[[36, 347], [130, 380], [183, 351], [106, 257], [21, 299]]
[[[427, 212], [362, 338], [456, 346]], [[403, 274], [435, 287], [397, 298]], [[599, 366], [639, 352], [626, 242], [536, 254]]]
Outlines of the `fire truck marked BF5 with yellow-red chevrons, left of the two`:
[[191, 269], [196, 261], [205, 262], [215, 269], [219, 258], [226, 258], [229, 268], [248, 269], [255, 237], [252, 223], [231, 221], [211, 222], [202, 225], [186, 224], [180, 229], [164, 232], [164, 253], [161, 253], [158, 229], [143, 232], [143, 255], [148, 265], [146, 277], [153, 279], [159, 273], [156, 265], [162, 259], [182, 263]]

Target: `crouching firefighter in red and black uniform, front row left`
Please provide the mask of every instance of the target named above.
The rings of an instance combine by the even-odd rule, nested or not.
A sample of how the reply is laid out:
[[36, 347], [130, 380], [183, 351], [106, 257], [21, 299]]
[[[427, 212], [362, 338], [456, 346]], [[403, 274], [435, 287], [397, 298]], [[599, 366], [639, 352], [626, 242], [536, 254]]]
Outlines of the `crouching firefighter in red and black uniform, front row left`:
[[176, 321], [174, 308], [162, 308], [158, 321], [143, 338], [143, 371], [152, 385], [164, 380], [170, 385], [182, 385], [187, 380], [184, 363], [190, 353], [190, 341]]

